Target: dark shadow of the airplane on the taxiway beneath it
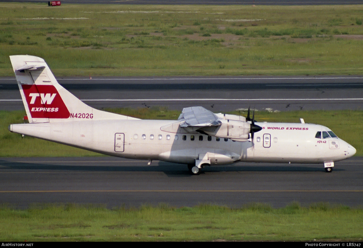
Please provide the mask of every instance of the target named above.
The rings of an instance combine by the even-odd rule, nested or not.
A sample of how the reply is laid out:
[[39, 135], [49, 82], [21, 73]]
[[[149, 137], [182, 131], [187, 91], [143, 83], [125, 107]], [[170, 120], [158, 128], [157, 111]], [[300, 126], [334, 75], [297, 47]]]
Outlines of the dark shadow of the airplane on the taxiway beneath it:
[[[54, 162], [56, 163], [56, 162]], [[86, 164], [86, 163], [85, 163]], [[100, 161], [102, 164], [102, 161]], [[140, 171], [140, 172], [163, 172], [170, 177], [185, 177], [191, 176], [186, 165], [173, 164], [163, 161], [155, 161], [152, 165], [72, 165], [70, 162], [67, 165], [57, 165], [52, 163], [37, 163], [37, 162], [9, 162], [6, 160], [0, 160], [0, 172], [1, 169], [14, 169], [14, 170], [46, 170], [46, 171]], [[250, 165], [243, 163], [234, 165], [221, 165], [221, 166], [207, 166], [201, 170], [201, 174], [213, 172], [312, 172], [325, 170], [321, 165], [285, 165], [285, 164], [273, 164], [260, 163], [257, 165]], [[344, 169], [334, 169], [335, 171], [341, 171]]]

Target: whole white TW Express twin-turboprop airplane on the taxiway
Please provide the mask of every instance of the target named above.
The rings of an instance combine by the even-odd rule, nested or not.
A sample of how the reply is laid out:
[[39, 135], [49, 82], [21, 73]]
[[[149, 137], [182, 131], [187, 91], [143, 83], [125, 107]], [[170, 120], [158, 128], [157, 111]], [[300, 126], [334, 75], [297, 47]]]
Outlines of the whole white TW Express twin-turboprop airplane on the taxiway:
[[110, 156], [207, 165], [244, 162], [322, 163], [356, 150], [329, 128], [302, 123], [255, 123], [237, 115], [184, 108], [178, 120], [140, 120], [91, 108], [58, 84], [44, 59], [10, 56], [29, 119], [9, 131]]

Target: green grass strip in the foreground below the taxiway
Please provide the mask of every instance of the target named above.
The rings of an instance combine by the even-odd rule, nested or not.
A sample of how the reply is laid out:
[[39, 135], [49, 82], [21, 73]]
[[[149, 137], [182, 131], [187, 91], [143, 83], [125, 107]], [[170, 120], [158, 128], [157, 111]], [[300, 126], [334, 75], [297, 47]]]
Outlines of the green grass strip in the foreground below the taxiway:
[[318, 203], [284, 208], [200, 205], [0, 208], [0, 241], [362, 241], [363, 209]]

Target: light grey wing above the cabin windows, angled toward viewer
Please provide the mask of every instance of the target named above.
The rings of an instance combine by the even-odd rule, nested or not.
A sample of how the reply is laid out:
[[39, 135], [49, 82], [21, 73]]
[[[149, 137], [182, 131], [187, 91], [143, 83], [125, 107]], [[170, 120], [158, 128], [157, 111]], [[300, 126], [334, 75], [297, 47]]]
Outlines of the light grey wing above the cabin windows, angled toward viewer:
[[180, 121], [180, 127], [187, 128], [190, 131], [202, 127], [217, 127], [222, 124], [213, 112], [203, 107], [183, 108], [178, 121]]

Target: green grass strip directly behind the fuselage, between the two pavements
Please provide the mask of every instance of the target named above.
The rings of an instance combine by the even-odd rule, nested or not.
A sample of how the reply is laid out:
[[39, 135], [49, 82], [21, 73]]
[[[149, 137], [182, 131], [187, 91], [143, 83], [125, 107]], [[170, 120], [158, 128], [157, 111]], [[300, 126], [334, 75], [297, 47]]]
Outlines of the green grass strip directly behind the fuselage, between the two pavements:
[[[171, 111], [166, 108], [139, 108], [139, 109], [105, 109], [109, 112], [137, 117], [140, 119], [176, 120], [180, 111]], [[236, 115], [244, 115], [245, 112], [229, 112]], [[32, 137], [24, 137], [8, 131], [9, 124], [23, 122], [23, 111], [0, 111], [0, 157], [78, 157], [78, 156], [102, 156], [98, 153], [73, 148]], [[337, 110], [337, 111], [287, 111], [269, 113], [257, 111], [257, 121], [290, 122], [299, 123], [300, 118], [305, 123], [325, 125], [333, 130], [341, 139], [353, 145], [356, 156], [363, 156], [363, 111]]]

